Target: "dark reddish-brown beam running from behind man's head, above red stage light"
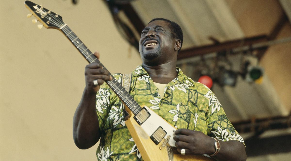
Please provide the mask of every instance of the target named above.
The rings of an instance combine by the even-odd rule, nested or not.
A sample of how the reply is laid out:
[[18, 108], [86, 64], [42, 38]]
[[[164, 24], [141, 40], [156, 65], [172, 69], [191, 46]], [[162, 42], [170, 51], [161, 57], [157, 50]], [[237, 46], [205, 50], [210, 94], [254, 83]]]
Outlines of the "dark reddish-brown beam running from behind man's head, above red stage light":
[[266, 35], [253, 36], [249, 38], [242, 38], [237, 40], [226, 41], [220, 44], [213, 45], [203, 45], [200, 47], [193, 47], [190, 49], [181, 50], [178, 59], [189, 58], [192, 56], [203, 55], [213, 52], [220, 52], [231, 50], [233, 48], [243, 47], [243, 46], [251, 46], [254, 43], [262, 43], [267, 42]]

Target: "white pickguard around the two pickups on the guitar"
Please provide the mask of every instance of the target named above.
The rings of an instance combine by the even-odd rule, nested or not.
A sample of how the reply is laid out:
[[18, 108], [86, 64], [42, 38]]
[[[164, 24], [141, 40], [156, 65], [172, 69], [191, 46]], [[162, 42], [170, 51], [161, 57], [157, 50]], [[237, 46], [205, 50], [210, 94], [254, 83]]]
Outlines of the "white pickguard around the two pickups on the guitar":
[[176, 147], [175, 146], [176, 141], [173, 139], [173, 137], [174, 137], [173, 134], [174, 134], [176, 129], [172, 125], [170, 125], [170, 123], [165, 121], [161, 116], [159, 116], [158, 114], [153, 112], [150, 108], [148, 108], [146, 106], [145, 106], [145, 108], [148, 110], [148, 112], [151, 115], [147, 120], [145, 120], [141, 124], [141, 127], [143, 128], [143, 130], [148, 134], [148, 136], [151, 136], [155, 132], [155, 130], [157, 130], [157, 128], [159, 128], [159, 126], [162, 126], [162, 128], [167, 132], [164, 139], [166, 139], [166, 137], [168, 135], [170, 135], [171, 138], [170, 138], [168, 143], [170, 144], [170, 146]]

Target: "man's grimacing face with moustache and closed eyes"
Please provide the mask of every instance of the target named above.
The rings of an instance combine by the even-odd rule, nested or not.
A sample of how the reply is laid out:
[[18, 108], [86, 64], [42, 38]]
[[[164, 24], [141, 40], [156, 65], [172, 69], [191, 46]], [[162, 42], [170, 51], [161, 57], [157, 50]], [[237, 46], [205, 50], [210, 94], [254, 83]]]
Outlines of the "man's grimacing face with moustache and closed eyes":
[[156, 20], [149, 23], [141, 32], [139, 52], [143, 62], [166, 63], [177, 55], [174, 49], [175, 38], [169, 23]]

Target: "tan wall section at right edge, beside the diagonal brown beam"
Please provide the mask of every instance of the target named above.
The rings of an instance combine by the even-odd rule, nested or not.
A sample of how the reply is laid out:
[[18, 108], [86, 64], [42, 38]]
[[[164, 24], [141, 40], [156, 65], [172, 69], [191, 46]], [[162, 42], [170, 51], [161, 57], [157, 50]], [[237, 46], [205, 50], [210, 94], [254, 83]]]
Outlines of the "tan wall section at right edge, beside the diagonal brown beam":
[[[283, 26], [281, 32], [278, 34], [277, 39], [286, 38], [291, 36], [291, 25], [287, 22]], [[273, 45], [269, 47], [260, 65], [264, 70], [273, 86], [276, 89], [281, 101], [284, 103], [288, 111], [291, 110], [291, 42]]]

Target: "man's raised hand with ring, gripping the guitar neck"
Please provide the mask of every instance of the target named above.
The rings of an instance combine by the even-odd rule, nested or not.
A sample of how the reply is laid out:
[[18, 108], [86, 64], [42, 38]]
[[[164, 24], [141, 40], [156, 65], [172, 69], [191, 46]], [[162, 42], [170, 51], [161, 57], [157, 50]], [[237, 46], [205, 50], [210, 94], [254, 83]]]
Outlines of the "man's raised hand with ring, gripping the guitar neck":
[[[94, 52], [94, 55], [97, 59], [100, 58], [98, 51]], [[98, 85], [94, 85], [93, 81], [97, 81]], [[108, 70], [104, 70], [99, 63], [88, 64], [85, 68], [85, 89], [89, 93], [97, 93], [100, 89], [100, 85], [104, 83], [105, 80], [112, 80], [112, 77], [109, 75]]]

